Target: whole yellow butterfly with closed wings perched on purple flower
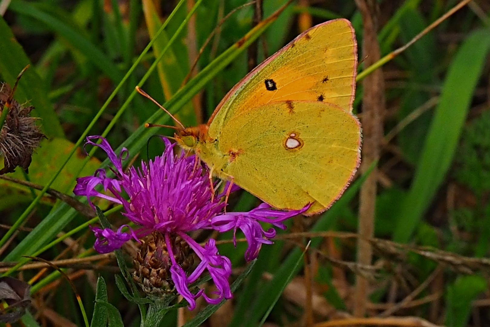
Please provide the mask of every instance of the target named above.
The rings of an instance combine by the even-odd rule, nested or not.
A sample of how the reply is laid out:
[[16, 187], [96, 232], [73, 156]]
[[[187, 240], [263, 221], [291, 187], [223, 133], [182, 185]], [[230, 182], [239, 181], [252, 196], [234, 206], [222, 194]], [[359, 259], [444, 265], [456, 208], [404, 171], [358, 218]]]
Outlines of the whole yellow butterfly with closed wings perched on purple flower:
[[352, 114], [357, 43], [349, 21], [316, 25], [257, 66], [206, 125], [177, 131], [214, 174], [279, 209], [326, 210], [360, 164]]

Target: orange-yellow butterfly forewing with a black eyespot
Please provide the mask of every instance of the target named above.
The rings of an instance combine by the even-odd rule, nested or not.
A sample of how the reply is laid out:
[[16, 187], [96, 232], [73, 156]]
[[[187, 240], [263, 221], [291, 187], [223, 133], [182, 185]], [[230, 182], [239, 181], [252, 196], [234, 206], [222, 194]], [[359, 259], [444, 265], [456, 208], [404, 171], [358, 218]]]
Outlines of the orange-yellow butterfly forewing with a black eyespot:
[[352, 111], [357, 44], [349, 21], [316, 25], [257, 66], [221, 101], [209, 135], [243, 110], [277, 101], [322, 101]]

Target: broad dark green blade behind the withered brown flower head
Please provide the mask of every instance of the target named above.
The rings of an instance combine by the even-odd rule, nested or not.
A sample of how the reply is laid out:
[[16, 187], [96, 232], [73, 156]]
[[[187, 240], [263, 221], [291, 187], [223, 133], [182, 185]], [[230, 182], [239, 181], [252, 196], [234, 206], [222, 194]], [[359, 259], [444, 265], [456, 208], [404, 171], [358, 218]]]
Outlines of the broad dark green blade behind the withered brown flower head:
[[[31, 62], [2, 17], [0, 17], [0, 49], [0, 74], [5, 82], [13, 86], [17, 75], [25, 66], [31, 65]], [[14, 99], [19, 103], [29, 101], [29, 104], [34, 106], [31, 115], [41, 118], [41, 129], [46, 136], [64, 137], [58, 117], [48, 100], [47, 85], [37, 75], [34, 67], [30, 67], [22, 75]]]

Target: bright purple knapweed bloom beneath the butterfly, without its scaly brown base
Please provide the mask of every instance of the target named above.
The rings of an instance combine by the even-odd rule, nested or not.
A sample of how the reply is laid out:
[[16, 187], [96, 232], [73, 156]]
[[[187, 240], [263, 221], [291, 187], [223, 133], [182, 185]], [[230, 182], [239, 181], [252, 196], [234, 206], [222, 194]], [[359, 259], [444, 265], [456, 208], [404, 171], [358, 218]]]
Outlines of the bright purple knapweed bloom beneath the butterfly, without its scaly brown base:
[[[100, 144], [93, 141], [97, 139], [101, 141]], [[92, 196], [122, 204], [123, 215], [140, 226], [134, 231], [127, 225], [121, 226], [117, 231], [92, 226], [97, 237], [94, 248], [98, 252], [107, 253], [119, 249], [130, 238], [144, 242], [140, 239], [155, 232], [161, 233], [163, 236], [152, 236], [152, 239], [164, 240], [160, 242], [163, 245], [158, 247], [160, 252], [168, 252], [168, 256], [165, 257], [168, 259], [162, 259], [162, 267], [170, 267], [168, 270], [175, 289], [189, 302], [190, 309], [196, 307], [195, 300], [201, 295], [208, 303], [230, 299], [230, 260], [218, 253], [214, 239], [209, 239], [202, 247], [188, 233], [197, 229], [214, 229], [220, 232], [233, 229], [236, 244], [235, 234], [237, 229], [240, 229], [248, 242], [245, 258], [252, 260], [257, 257], [262, 244], [272, 243], [270, 238], [276, 233], [273, 227], [264, 230], [260, 222], [284, 229], [284, 220], [306, 211], [309, 206], [301, 210], [279, 211], [263, 203], [249, 212], [224, 213], [223, 208], [226, 204], [222, 201], [222, 194], [213, 197], [208, 178], [209, 171], [201, 166], [195, 155], [175, 155], [174, 145], [168, 139], [162, 139], [166, 148], [161, 156], [148, 163], [142, 161], [141, 168], [130, 167], [125, 172], [122, 161], [128, 157], [127, 149], [123, 148], [118, 156], [103, 137], [87, 137], [86, 145], [98, 146], [107, 153], [114, 165], [115, 169], [111, 170], [115, 176], [109, 177], [105, 170], [98, 169], [94, 176], [77, 178], [73, 193], [86, 196], [92, 207]], [[103, 190], [110, 191], [112, 196], [99, 192], [96, 189], [98, 185], [103, 185]], [[123, 229], [126, 228], [129, 231], [124, 232]], [[186, 242], [199, 258], [200, 262], [194, 271], [186, 272], [188, 267], [184, 269], [184, 264], [176, 260], [179, 253], [176, 253], [178, 250], [172, 244], [176, 239]], [[155, 248], [153, 247], [152, 251]], [[161, 257], [162, 255], [160, 259]], [[205, 270], [216, 285], [215, 298], [208, 297], [204, 290], [193, 294], [189, 289], [189, 284], [195, 282]]]

